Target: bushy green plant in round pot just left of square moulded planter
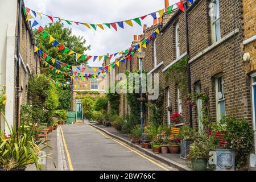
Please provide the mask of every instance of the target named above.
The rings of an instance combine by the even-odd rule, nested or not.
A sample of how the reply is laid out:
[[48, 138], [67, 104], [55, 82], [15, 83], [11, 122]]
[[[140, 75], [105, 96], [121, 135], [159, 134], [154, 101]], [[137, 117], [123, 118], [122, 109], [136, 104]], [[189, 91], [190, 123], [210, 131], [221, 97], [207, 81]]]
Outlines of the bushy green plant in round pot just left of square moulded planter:
[[205, 171], [207, 169], [209, 152], [216, 149], [218, 140], [208, 134], [199, 133], [195, 141], [189, 147], [187, 159], [191, 160], [194, 171]]

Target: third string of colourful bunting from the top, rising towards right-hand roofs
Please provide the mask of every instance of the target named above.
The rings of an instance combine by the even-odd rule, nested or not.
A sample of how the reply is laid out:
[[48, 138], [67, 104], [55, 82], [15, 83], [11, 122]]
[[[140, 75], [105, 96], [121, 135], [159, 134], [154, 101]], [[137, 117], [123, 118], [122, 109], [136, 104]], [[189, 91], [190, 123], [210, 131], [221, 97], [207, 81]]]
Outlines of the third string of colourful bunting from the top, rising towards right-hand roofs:
[[[135, 46], [130, 47], [129, 49], [127, 49], [125, 51], [125, 55], [128, 55], [128, 56], [127, 57], [123, 57], [123, 56], [119, 57], [119, 60], [116, 61], [114, 64], [117, 64], [117, 66], [119, 67], [119, 62], [120, 61], [123, 61], [125, 59], [131, 60], [131, 56], [133, 56], [136, 51], [140, 52], [142, 47], [147, 48], [147, 44], [150, 43], [151, 39], [152, 38], [155, 39], [155, 34], [159, 34], [159, 28], [156, 28], [156, 30], [150, 36], [148, 36], [146, 39], [142, 40], [140, 43], [135, 44]], [[57, 65], [57, 67], [64, 68], [65, 71], [69, 70], [75, 76], [77, 76], [77, 75], [79, 76], [79, 75], [82, 74], [82, 73], [75, 72], [71, 69], [72, 67], [76, 67], [76, 66], [65, 64], [61, 61], [53, 59], [51, 56], [47, 55], [45, 52], [43, 52], [41, 49], [39, 49], [36, 46], [35, 46], [35, 52], [38, 52], [39, 55], [43, 55], [44, 59], [47, 62], [51, 60], [53, 64]], [[129, 55], [129, 53], [130, 53], [130, 55]], [[111, 57], [111, 55], [109, 57]], [[104, 72], [105, 70], [108, 70], [109, 68], [112, 68], [112, 67], [113, 67], [113, 63], [109, 64], [109, 65], [106, 65], [105, 67], [99, 67], [99, 69], [101, 69], [101, 71]], [[81, 72], [84, 72], [86, 70], [86, 68], [84, 68], [84, 67], [76, 67], [76, 68], [79, 69]], [[88, 67], [88, 68], [92, 68], [92, 67]], [[94, 69], [94, 72], [96, 72], [97, 68], [93, 68], [93, 69]]]

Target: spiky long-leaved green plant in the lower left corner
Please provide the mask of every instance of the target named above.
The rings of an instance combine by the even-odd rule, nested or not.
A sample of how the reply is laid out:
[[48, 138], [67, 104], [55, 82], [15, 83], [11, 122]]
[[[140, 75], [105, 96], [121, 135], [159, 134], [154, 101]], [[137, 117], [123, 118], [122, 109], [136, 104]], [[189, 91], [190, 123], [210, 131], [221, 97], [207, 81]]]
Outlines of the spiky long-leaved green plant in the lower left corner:
[[[5, 118], [5, 116], [3, 115]], [[42, 170], [42, 164], [39, 161], [48, 155], [39, 156], [40, 151], [49, 147], [45, 142], [40, 141], [35, 144], [33, 131], [31, 127], [22, 125], [16, 130], [15, 127], [9, 127], [10, 135], [6, 137], [3, 130], [0, 133], [0, 168], [7, 171], [26, 167], [28, 164], [35, 164], [37, 169]], [[42, 148], [42, 146], [45, 146]], [[51, 147], [50, 147], [51, 148]]]

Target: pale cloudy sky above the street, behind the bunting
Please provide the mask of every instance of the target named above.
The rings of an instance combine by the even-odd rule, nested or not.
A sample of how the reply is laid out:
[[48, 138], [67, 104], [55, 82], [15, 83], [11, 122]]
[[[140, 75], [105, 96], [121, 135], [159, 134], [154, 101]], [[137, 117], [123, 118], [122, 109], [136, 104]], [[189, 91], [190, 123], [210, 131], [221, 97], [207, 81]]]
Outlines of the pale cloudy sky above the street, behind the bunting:
[[[180, 0], [169, 0], [173, 5]], [[164, 0], [24, 0], [24, 3], [30, 9], [39, 11], [48, 15], [57, 16], [63, 19], [73, 20], [85, 23], [109, 23], [119, 22], [121, 20], [133, 19], [142, 15], [152, 13], [164, 8]], [[39, 20], [40, 24], [51, 22], [43, 16]], [[143, 24], [151, 26], [153, 19], [148, 16], [142, 21]], [[65, 23], [64, 23], [65, 24]], [[106, 53], [116, 53], [130, 47], [133, 35], [142, 34], [143, 27], [133, 23], [130, 27], [125, 23], [125, 29], [118, 27], [116, 32], [113, 28], [105, 30], [97, 28], [97, 31], [90, 30], [83, 25], [77, 26], [65, 24], [72, 28], [73, 34], [83, 36], [86, 39], [86, 45], [91, 46], [91, 50], [85, 52], [88, 55], [106, 55]], [[100, 66], [101, 62], [89, 61], [90, 66]]]

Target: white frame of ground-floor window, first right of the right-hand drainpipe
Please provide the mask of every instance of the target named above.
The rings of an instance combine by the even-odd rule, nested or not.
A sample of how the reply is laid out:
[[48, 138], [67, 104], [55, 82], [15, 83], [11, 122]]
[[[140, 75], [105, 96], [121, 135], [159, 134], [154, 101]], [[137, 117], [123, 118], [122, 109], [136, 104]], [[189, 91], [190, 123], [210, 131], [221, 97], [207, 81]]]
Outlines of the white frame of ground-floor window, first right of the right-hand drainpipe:
[[[218, 78], [222, 78], [222, 99], [220, 100], [218, 98]], [[223, 81], [223, 75], [218, 75], [217, 77], [215, 77], [215, 92], [216, 92], [216, 118], [217, 121], [220, 121], [221, 119], [221, 111], [220, 111], [220, 104], [219, 102], [224, 101], [224, 105], [225, 105], [225, 115], [226, 115], [226, 102], [225, 102], [225, 92], [224, 92], [224, 81]]]

